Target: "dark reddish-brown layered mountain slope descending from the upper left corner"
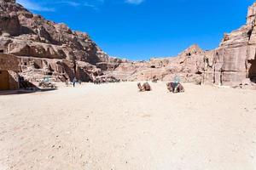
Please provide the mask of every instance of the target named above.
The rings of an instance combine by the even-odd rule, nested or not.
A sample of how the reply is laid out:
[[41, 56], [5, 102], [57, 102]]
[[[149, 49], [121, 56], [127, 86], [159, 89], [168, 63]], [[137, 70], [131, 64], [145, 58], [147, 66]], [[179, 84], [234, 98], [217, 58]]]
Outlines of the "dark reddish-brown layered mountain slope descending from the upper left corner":
[[90, 81], [101, 72], [96, 64], [108, 62], [108, 54], [86, 33], [32, 14], [15, 0], [0, 0], [0, 52], [19, 57], [28, 79]]

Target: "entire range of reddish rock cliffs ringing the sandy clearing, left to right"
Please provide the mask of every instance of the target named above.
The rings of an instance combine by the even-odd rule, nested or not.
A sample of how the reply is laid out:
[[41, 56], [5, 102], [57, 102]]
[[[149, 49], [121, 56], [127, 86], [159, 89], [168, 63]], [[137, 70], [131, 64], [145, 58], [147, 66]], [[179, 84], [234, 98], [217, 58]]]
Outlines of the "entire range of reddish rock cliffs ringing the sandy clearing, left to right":
[[21, 75], [31, 80], [88, 82], [105, 75], [125, 81], [158, 79], [237, 86], [256, 82], [256, 3], [247, 23], [224, 34], [219, 47], [204, 51], [197, 45], [177, 57], [129, 61], [110, 58], [83, 32], [32, 14], [15, 0], [0, 0], [0, 53], [20, 58]]

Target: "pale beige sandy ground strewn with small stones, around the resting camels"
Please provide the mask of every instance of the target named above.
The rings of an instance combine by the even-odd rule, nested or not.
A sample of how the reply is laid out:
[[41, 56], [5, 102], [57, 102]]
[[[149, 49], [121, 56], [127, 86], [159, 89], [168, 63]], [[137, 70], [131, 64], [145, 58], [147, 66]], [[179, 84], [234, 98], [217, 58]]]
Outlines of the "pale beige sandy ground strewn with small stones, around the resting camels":
[[256, 91], [152, 86], [0, 96], [0, 170], [256, 169]]

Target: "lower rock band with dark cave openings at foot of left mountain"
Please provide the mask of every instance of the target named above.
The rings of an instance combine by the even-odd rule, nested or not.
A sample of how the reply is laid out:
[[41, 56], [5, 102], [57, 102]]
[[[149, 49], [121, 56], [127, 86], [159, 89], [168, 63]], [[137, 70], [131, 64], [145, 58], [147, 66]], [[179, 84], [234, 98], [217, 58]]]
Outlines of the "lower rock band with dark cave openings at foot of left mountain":
[[72, 81], [74, 77], [82, 82], [90, 82], [93, 75], [100, 75], [102, 71], [96, 65], [83, 61], [69, 59], [40, 59], [32, 57], [21, 58], [22, 72], [20, 76], [31, 82], [37, 82], [42, 77], [51, 77], [54, 82]]

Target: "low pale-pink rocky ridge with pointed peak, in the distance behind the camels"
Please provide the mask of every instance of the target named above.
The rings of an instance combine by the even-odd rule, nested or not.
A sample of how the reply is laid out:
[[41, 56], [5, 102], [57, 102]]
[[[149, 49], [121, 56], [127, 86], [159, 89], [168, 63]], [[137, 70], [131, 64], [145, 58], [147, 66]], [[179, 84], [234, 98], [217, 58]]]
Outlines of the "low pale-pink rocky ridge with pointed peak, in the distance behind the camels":
[[183, 82], [201, 81], [205, 52], [192, 45], [177, 57], [154, 58], [147, 61], [123, 62], [108, 74], [128, 81], [145, 81], [153, 78], [171, 81], [177, 75]]

